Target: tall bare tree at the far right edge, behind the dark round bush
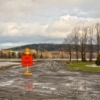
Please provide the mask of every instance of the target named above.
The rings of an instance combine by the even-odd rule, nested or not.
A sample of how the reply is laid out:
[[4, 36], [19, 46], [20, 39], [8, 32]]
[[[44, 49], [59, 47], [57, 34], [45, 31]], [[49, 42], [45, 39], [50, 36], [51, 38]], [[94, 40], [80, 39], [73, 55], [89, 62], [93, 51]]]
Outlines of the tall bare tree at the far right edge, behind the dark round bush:
[[96, 45], [97, 45], [97, 54], [100, 52], [100, 23], [96, 23]]

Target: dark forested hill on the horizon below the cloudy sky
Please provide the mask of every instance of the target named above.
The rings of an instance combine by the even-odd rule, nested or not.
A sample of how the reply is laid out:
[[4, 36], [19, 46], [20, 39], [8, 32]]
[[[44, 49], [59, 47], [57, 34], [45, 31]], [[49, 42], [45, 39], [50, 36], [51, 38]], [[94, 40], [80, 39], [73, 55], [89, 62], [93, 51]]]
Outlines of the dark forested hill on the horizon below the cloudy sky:
[[[68, 51], [68, 45], [66, 44], [51, 44], [51, 43], [42, 43], [42, 44], [28, 44], [23, 46], [17, 46], [13, 48], [9, 48], [12, 50], [23, 50], [25, 48], [35, 49], [35, 50], [47, 50], [47, 51], [61, 51], [66, 50]], [[72, 51], [75, 51], [75, 46], [71, 44]], [[90, 49], [90, 45], [86, 45], [87, 52]], [[93, 52], [96, 52], [97, 46], [93, 45]]]

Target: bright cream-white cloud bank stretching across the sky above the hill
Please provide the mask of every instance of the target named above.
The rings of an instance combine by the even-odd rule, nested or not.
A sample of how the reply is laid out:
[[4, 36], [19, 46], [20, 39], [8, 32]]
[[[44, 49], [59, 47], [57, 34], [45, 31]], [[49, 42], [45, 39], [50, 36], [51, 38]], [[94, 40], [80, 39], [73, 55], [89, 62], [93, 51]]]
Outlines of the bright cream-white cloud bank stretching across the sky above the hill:
[[52, 24], [40, 23], [1, 23], [1, 36], [31, 37], [41, 36], [47, 38], [64, 38], [76, 26], [93, 26], [100, 22], [100, 18], [78, 18], [77, 16], [61, 16]]

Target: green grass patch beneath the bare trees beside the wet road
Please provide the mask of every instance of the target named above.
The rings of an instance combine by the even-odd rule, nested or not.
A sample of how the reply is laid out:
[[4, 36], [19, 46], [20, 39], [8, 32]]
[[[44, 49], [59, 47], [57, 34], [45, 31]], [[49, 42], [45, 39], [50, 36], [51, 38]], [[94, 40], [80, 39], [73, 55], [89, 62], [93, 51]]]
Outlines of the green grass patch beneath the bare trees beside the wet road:
[[[100, 67], [91, 67], [95, 62], [65, 62], [70, 70], [100, 72]], [[89, 65], [88, 67], [86, 65]]]

